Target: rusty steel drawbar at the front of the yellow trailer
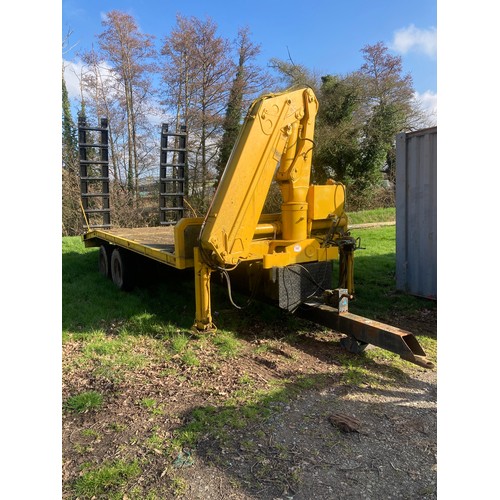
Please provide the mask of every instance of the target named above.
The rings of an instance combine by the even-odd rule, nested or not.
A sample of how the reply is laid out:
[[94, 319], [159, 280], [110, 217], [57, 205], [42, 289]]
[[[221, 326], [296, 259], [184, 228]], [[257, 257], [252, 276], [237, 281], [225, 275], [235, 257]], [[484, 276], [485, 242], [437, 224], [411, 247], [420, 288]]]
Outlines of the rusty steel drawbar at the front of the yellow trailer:
[[348, 312], [349, 298], [345, 289], [331, 290], [323, 302], [308, 301], [297, 309], [295, 314], [346, 334], [347, 337], [341, 340], [341, 345], [350, 352], [360, 353], [368, 344], [372, 344], [399, 354], [402, 359], [418, 366], [434, 367], [434, 364], [426, 359], [424, 350], [412, 333]]

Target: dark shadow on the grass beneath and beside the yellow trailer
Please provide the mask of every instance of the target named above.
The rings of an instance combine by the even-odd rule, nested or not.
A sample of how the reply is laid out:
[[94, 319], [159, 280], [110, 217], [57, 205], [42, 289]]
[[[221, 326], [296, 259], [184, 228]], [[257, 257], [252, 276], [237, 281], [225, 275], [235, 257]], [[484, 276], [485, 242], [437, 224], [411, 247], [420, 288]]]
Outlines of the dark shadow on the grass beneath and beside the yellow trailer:
[[[168, 329], [191, 330], [195, 316], [194, 279], [191, 269], [179, 271], [143, 259], [137, 265], [137, 286], [131, 292], [116, 288], [111, 279], [97, 269], [97, 249], [83, 253], [63, 254], [63, 329], [88, 332], [104, 329], [110, 322], [127, 323], [129, 333], [157, 336], [161, 325]], [[368, 262], [369, 261], [369, 262]], [[398, 294], [394, 291], [393, 255], [364, 257], [365, 272], [358, 297], [350, 304], [351, 312], [386, 321], [408, 311], [435, 311], [436, 303]], [[222, 279], [212, 276], [212, 309], [219, 329], [230, 330], [243, 338], [289, 339], [295, 342], [301, 334], [318, 327], [298, 319], [269, 303], [252, 301], [243, 310], [233, 307]], [[381, 295], [380, 291], [383, 290]], [[245, 305], [247, 297], [234, 293], [237, 304]], [[420, 333], [420, 332], [419, 332]], [[432, 336], [432, 335], [429, 335]], [[295, 345], [295, 344], [294, 344]], [[331, 361], [335, 341], [316, 341], [302, 335], [300, 343], [308, 354]], [[298, 347], [298, 345], [295, 345]], [[342, 352], [345, 352], [342, 350]], [[359, 355], [356, 355], [359, 358]]]

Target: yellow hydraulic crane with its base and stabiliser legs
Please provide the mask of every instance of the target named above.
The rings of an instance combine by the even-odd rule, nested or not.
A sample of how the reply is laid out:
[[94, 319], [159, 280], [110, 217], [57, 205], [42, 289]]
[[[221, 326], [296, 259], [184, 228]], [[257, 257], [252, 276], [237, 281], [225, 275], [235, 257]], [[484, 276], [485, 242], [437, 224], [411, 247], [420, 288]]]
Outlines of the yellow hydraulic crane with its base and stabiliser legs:
[[[196, 328], [213, 327], [213, 270], [260, 261], [264, 271], [339, 258], [337, 240], [347, 233], [344, 186], [310, 185], [317, 111], [309, 88], [265, 95], [250, 107], [195, 249]], [[281, 213], [263, 220], [273, 180], [283, 198]], [[352, 293], [352, 251], [346, 253], [344, 286]]]

